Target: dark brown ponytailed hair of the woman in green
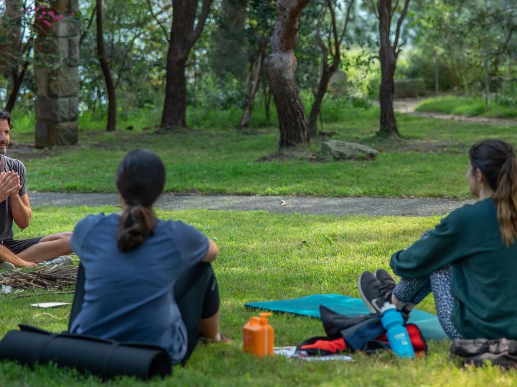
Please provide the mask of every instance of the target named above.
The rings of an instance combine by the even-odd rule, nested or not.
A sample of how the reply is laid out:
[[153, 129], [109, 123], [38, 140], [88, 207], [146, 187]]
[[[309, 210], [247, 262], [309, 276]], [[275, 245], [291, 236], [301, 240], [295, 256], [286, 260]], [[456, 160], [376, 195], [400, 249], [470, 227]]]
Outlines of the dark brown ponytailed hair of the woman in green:
[[517, 162], [504, 141], [484, 140], [469, 151], [473, 173], [479, 169], [494, 191], [497, 220], [506, 246], [517, 238]]

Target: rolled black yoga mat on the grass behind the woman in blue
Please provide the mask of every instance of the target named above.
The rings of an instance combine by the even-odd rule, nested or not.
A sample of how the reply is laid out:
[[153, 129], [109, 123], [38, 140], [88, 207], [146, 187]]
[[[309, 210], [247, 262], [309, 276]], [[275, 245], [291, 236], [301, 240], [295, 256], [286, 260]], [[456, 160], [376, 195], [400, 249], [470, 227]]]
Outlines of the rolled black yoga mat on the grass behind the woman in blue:
[[7, 332], [0, 341], [0, 360], [31, 366], [52, 361], [103, 379], [122, 375], [150, 379], [172, 373], [171, 358], [162, 347], [80, 334], [54, 334], [26, 325], [20, 325], [20, 329]]

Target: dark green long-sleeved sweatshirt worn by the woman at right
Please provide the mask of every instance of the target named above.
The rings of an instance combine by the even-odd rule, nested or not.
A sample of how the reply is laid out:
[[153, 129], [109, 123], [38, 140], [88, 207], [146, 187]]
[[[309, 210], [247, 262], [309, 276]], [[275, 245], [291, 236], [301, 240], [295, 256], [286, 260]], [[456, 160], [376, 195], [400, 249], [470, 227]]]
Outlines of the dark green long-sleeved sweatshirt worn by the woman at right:
[[493, 199], [456, 209], [390, 262], [403, 278], [429, 275], [447, 264], [458, 332], [465, 338], [516, 340], [517, 243], [504, 244]]

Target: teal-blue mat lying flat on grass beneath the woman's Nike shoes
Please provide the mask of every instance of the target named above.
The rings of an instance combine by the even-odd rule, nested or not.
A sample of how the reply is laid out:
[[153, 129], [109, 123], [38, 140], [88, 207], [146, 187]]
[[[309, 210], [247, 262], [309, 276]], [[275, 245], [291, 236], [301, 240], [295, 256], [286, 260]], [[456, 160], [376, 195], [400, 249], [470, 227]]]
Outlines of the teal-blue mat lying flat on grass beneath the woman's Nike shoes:
[[[300, 316], [320, 318], [320, 305], [343, 314], [345, 316], [358, 316], [368, 314], [370, 311], [359, 298], [343, 296], [341, 294], [315, 294], [313, 296], [293, 298], [291, 300], [247, 302], [247, 308], [265, 309], [273, 312], [292, 313]], [[414, 309], [408, 322], [417, 325], [422, 335], [427, 339], [443, 340], [449, 338], [442, 329], [438, 317], [434, 314]]]

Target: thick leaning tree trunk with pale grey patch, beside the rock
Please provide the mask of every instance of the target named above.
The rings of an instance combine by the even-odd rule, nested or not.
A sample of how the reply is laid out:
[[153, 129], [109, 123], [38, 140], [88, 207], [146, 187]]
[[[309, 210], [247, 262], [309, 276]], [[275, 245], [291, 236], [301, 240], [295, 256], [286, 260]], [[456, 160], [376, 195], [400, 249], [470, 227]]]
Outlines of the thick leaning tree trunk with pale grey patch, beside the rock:
[[271, 54], [266, 60], [269, 88], [277, 106], [280, 148], [308, 144], [309, 125], [296, 84], [294, 45], [298, 19], [310, 0], [277, 0], [275, 30], [271, 36]]

